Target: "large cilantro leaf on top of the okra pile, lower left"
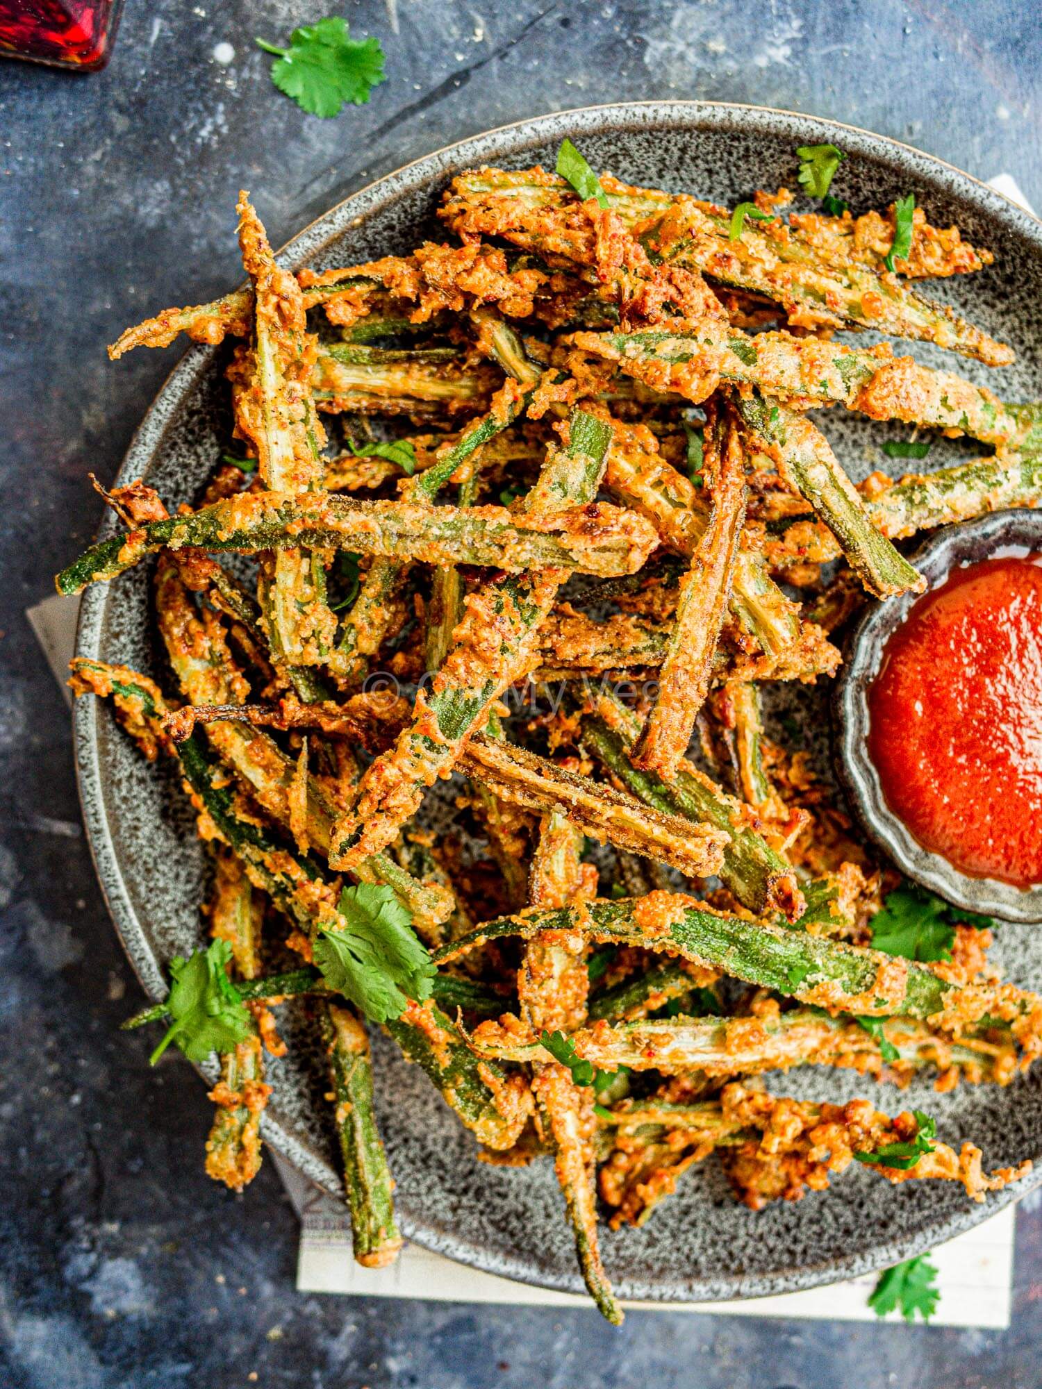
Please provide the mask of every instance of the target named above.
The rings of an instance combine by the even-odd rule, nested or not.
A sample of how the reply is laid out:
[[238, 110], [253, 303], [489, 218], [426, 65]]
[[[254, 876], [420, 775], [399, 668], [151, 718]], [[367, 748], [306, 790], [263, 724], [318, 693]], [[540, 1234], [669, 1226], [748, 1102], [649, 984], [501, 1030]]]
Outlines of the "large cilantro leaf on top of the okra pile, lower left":
[[413, 917], [390, 888], [360, 882], [340, 893], [338, 926], [322, 926], [314, 960], [322, 978], [372, 1022], [397, 1018], [431, 995], [435, 970]]

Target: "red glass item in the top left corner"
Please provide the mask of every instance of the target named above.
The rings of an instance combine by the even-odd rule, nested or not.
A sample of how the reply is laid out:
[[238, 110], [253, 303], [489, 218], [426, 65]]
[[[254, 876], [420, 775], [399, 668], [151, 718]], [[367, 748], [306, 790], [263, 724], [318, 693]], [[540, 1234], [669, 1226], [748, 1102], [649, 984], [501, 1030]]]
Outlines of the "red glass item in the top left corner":
[[0, 0], [0, 56], [89, 72], [113, 51], [122, 0]]

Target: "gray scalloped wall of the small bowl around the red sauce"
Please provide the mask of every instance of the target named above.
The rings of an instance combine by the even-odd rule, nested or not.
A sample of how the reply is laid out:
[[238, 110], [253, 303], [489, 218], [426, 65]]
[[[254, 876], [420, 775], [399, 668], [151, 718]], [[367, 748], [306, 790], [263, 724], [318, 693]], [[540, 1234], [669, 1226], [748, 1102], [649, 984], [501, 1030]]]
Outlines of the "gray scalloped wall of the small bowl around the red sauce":
[[[966, 564], [999, 554], [1042, 551], [1042, 511], [996, 511], [936, 532], [913, 556], [928, 590]], [[1003, 921], [1042, 921], [1042, 883], [1016, 888], [995, 878], [971, 878], [925, 849], [886, 804], [868, 757], [868, 690], [882, 667], [886, 643], [907, 618], [917, 593], [874, 604], [852, 632], [834, 696], [836, 772], [852, 808], [871, 839], [902, 872], [966, 911]]]

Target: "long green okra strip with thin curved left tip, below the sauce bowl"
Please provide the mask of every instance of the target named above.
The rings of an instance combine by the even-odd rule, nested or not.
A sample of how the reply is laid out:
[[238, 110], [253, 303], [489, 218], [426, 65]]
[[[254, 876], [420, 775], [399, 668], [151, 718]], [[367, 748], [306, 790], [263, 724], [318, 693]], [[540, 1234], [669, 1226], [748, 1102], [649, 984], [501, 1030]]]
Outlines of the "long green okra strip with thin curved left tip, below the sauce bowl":
[[445, 946], [433, 958], [445, 964], [488, 940], [528, 939], [539, 931], [582, 931], [592, 940], [667, 951], [802, 1003], [859, 1017], [902, 1013], [945, 1031], [956, 1021], [959, 1031], [966, 1031], [992, 1004], [1002, 1004], [1006, 1011], [992, 1008], [992, 1015], [1021, 1021], [1020, 1035], [1014, 1022], [1014, 1035], [1025, 1051], [1039, 1050], [1042, 1000], [1036, 995], [1011, 985], [959, 986], [935, 970], [899, 956], [786, 931], [766, 920], [746, 921], [717, 913], [682, 893], [652, 892], [638, 900], [599, 900], [561, 911], [532, 908], [500, 917]]

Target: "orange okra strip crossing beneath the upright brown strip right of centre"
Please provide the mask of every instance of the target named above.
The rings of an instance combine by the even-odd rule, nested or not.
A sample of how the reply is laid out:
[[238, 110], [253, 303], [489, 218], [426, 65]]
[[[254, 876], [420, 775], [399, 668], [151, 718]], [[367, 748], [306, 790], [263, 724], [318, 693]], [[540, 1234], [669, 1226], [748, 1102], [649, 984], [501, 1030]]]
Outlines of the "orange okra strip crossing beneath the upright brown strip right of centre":
[[[690, 558], [709, 522], [693, 483], [659, 453], [654, 438], [642, 426], [615, 424], [614, 432], [606, 475], [609, 489], [646, 515], [664, 544]], [[777, 657], [799, 640], [796, 606], [749, 550], [738, 551], [731, 608], [768, 656]]]

